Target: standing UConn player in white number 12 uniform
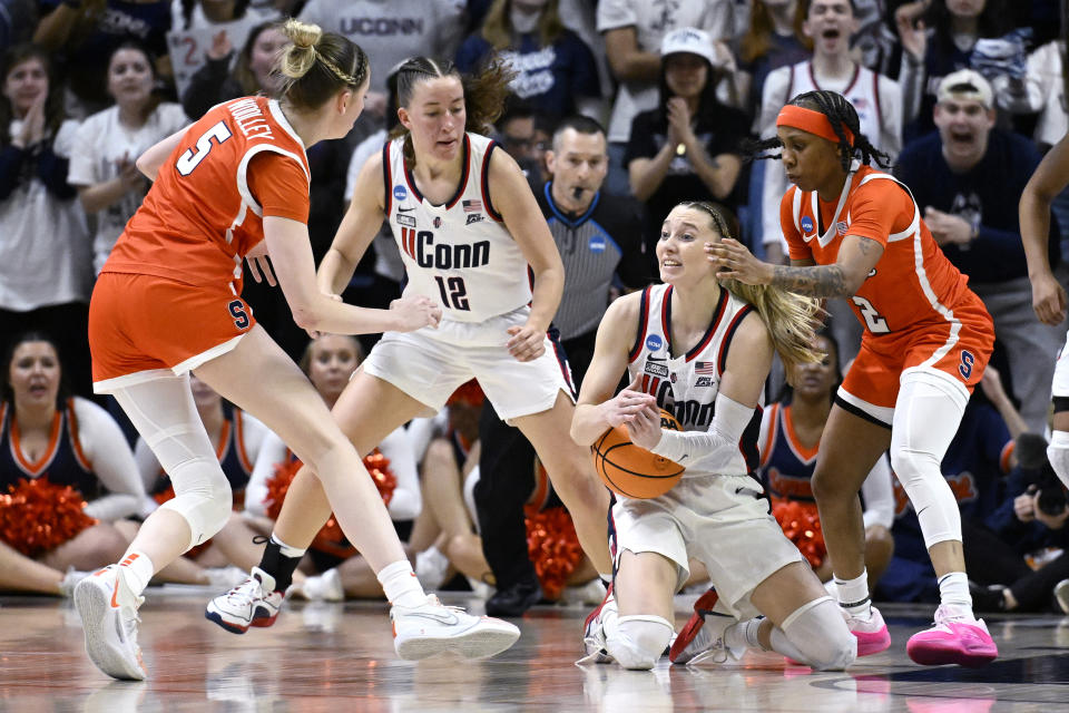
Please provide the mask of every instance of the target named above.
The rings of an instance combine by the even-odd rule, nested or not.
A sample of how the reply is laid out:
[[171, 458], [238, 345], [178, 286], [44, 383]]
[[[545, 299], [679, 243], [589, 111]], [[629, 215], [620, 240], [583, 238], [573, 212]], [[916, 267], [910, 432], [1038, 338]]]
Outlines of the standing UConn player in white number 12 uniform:
[[[547, 338], [563, 287], [560, 255], [519, 166], [473, 133], [500, 113], [510, 77], [491, 65], [462, 79], [452, 65], [422, 57], [396, 70], [400, 135], [361, 170], [320, 266], [320, 286], [342, 291], [385, 218], [404, 261], [404, 294], [432, 299], [443, 319], [437, 330], [384, 334], [334, 406], [334, 418], [357, 451], [367, 452], [478, 379], [501, 418], [534, 446], [583, 549], [608, 573], [608, 491], [587, 451], [568, 437], [569, 375]], [[228, 628], [257, 611], [273, 617], [330, 512], [320, 481], [303, 468], [259, 567], [210, 602], [208, 617]]]

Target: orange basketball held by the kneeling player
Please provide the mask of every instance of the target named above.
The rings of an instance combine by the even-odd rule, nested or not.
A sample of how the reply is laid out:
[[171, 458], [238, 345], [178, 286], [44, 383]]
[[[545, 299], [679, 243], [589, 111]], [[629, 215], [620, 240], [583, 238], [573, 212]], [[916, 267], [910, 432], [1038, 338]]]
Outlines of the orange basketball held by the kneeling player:
[[[679, 421], [660, 410], [660, 428], [681, 431]], [[683, 477], [679, 463], [631, 442], [627, 427], [610, 428], [590, 447], [594, 468], [606, 486], [628, 498], [656, 498], [671, 490]]]

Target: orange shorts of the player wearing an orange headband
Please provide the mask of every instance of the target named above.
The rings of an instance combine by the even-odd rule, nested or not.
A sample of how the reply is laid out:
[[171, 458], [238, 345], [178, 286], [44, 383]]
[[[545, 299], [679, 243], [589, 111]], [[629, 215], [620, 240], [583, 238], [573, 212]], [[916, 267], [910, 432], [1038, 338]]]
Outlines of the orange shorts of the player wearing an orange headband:
[[994, 323], [983, 302], [971, 291], [953, 307], [960, 329], [951, 322], [861, 340], [861, 351], [843, 380], [842, 390], [877, 408], [894, 408], [899, 379], [908, 369], [940, 371], [969, 393], [980, 382], [994, 345]]

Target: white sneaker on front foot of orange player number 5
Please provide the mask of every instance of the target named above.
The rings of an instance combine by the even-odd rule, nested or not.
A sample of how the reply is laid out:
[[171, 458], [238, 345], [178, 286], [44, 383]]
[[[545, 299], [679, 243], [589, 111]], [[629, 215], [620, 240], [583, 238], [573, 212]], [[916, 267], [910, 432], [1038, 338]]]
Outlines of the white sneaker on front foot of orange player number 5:
[[393, 648], [398, 656], [419, 661], [455, 652], [465, 658], [493, 656], [516, 643], [520, 629], [492, 616], [472, 616], [460, 607], [444, 606], [429, 594], [420, 606], [390, 608]]

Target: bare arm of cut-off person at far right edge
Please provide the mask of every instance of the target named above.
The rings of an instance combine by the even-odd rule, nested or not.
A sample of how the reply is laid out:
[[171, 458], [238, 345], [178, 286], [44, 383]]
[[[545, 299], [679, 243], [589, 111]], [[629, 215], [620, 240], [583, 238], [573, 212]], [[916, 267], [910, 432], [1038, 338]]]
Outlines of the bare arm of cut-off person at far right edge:
[[1055, 279], [1047, 256], [1050, 235], [1050, 204], [1069, 185], [1069, 134], [1055, 144], [1024, 186], [1018, 211], [1021, 240], [1032, 283], [1032, 309], [1045, 324], [1066, 318], [1066, 291]]

